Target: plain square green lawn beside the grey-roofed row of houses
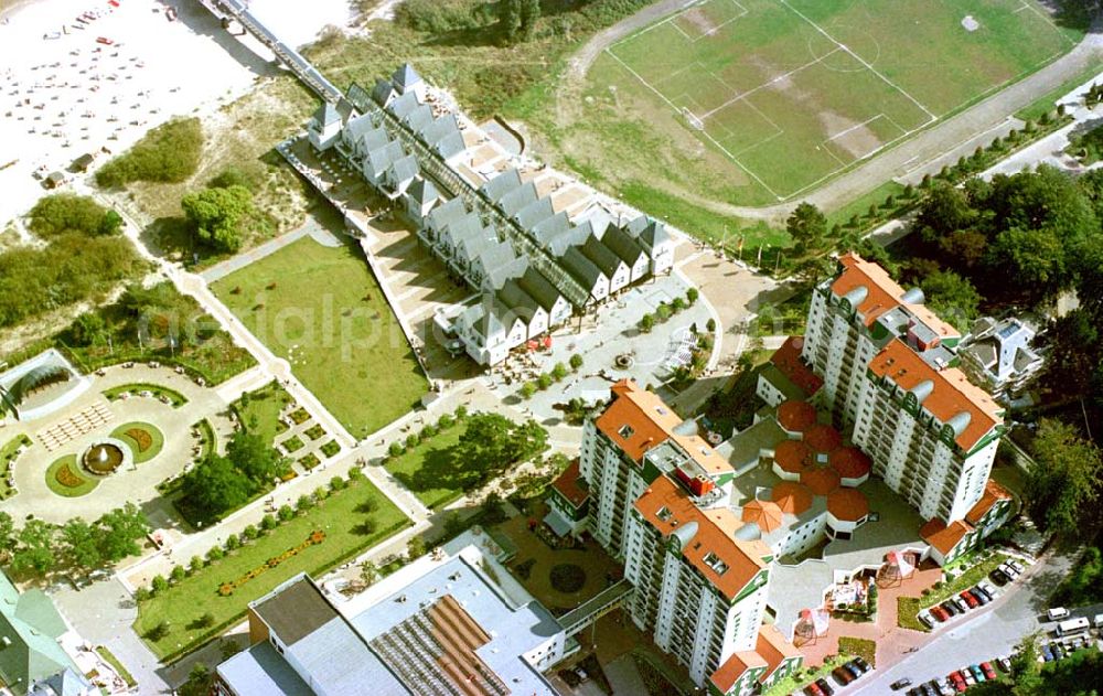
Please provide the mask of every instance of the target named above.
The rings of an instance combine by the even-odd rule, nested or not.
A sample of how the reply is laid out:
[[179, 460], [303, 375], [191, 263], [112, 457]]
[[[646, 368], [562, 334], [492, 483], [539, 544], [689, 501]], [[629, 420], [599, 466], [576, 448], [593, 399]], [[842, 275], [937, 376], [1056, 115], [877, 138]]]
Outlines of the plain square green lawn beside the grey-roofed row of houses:
[[427, 382], [358, 248], [306, 237], [213, 283], [357, 438], [409, 411]]

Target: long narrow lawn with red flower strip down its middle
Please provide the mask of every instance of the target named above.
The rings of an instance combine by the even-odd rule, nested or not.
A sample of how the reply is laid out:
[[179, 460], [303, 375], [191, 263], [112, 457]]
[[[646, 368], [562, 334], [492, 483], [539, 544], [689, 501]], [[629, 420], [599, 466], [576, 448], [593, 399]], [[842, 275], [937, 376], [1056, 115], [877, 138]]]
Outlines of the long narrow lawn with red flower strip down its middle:
[[[370, 514], [363, 512], [363, 505], [368, 500], [376, 505], [375, 512]], [[367, 521], [374, 523], [374, 528], [363, 526]], [[331, 494], [266, 536], [214, 561], [157, 597], [140, 602], [133, 628], [144, 636], [162, 621], [168, 622], [168, 632], [163, 638], [146, 642], [158, 657], [173, 660], [239, 620], [249, 601], [269, 592], [283, 580], [303, 571], [318, 576], [407, 525], [409, 520], [371, 482], [366, 479], [351, 482], [349, 488]], [[309, 546], [261, 572], [228, 597], [218, 593], [222, 583], [232, 582], [264, 566], [268, 559], [299, 546], [314, 531], [325, 533], [322, 543]], [[199, 620], [207, 613], [214, 617], [214, 623], [201, 627]]]

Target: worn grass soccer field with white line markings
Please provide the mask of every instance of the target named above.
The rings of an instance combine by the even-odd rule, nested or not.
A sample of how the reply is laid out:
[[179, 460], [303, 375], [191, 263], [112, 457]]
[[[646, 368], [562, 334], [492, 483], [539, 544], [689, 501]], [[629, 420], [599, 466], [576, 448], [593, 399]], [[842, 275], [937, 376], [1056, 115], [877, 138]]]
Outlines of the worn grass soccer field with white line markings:
[[788, 200], [1080, 35], [1036, 0], [703, 0], [611, 45], [590, 82], [625, 118], [674, 115], [739, 170], [740, 199]]

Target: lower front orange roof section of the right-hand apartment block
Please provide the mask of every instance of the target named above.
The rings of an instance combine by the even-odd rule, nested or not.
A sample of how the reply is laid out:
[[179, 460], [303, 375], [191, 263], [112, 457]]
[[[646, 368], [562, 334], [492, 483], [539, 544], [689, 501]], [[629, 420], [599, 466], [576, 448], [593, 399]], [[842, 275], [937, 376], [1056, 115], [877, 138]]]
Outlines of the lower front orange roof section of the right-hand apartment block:
[[930, 395], [921, 406], [939, 422], [945, 425], [955, 416], [965, 414], [968, 422], [955, 438], [965, 451], [981, 441], [1004, 419], [1003, 409], [992, 396], [974, 386], [956, 367], [935, 370], [900, 339], [893, 339], [869, 362], [869, 370], [878, 377], [887, 377], [904, 392], [923, 382], [933, 383]]

